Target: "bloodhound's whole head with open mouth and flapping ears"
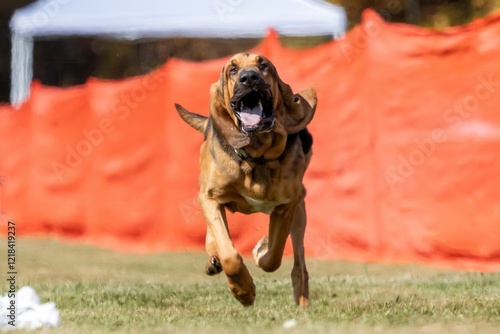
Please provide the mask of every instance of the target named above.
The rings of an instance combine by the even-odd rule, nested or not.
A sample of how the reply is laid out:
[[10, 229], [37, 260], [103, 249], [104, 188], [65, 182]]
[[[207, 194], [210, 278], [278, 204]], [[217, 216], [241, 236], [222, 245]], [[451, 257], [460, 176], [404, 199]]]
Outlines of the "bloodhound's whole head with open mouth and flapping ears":
[[212, 85], [210, 113], [226, 141], [240, 148], [256, 134], [299, 132], [311, 121], [316, 103], [314, 89], [293, 94], [266, 57], [239, 53]]

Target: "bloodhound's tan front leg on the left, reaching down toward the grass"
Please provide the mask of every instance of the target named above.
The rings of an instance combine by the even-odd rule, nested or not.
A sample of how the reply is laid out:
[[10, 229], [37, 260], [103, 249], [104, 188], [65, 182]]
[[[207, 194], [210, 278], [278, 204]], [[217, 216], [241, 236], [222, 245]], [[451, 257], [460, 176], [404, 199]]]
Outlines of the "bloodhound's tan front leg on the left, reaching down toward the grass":
[[233, 296], [245, 306], [252, 305], [255, 300], [255, 285], [229, 236], [224, 207], [216, 200], [202, 194], [200, 194], [199, 202], [207, 223], [207, 233], [210, 234], [212, 245], [210, 248], [215, 248], [207, 249], [207, 252], [209, 255], [213, 255], [210, 253], [214, 250], [217, 252]]

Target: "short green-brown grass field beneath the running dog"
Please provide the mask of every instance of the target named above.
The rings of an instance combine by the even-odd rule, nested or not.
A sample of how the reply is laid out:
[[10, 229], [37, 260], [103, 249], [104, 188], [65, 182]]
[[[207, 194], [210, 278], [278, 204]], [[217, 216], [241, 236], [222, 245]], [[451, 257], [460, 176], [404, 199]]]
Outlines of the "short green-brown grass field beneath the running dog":
[[[203, 273], [201, 253], [136, 255], [20, 239], [17, 258], [18, 287], [31, 285], [61, 312], [61, 327], [43, 333], [500, 332], [500, 273], [310, 259], [312, 304], [302, 310], [289, 260], [272, 274], [246, 260], [257, 300], [244, 308], [223, 275]], [[296, 325], [284, 328], [292, 319]]]

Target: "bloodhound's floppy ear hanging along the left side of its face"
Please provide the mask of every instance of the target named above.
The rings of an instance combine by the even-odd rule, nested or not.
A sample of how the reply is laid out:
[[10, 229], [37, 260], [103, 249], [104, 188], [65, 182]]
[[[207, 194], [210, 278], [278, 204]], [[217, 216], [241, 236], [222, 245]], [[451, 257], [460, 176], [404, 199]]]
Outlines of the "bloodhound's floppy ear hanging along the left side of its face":
[[233, 148], [238, 149], [250, 144], [250, 138], [238, 129], [231, 117], [232, 111], [225, 84], [224, 68], [225, 66], [222, 68], [219, 81], [213, 83], [210, 88], [210, 116], [222, 138]]

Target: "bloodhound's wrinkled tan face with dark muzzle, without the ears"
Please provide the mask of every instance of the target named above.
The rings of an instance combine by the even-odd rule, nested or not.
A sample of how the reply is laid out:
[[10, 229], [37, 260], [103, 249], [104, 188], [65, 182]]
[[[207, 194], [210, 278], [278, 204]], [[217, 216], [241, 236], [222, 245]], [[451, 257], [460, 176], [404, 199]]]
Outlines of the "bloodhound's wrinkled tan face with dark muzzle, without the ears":
[[245, 133], [274, 129], [276, 70], [264, 56], [240, 53], [224, 66], [226, 93], [232, 118]]

